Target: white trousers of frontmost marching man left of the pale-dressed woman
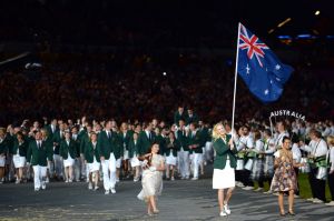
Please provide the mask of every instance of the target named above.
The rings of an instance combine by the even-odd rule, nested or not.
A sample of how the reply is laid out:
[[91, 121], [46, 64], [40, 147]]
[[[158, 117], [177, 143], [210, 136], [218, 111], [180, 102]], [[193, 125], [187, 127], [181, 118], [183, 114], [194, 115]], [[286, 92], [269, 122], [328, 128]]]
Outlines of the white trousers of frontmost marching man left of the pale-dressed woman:
[[115, 188], [116, 184], [116, 159], [114, 153], [110, 153], [109, 160], [101, 162], [104, 172], [104, 187], [105, 190]]

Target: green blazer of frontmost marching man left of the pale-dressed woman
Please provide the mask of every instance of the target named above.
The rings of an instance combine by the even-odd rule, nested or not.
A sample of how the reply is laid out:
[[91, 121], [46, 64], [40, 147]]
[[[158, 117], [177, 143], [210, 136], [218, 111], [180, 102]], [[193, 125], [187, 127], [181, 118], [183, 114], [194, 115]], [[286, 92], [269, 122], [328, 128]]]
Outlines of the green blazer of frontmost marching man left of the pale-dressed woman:
[[105, 130], [98, 134], [98, 151], [100, 157], [105, 157], [106, 160], [109, 160], [110, 153], [114, 153], [116, 159], [118, 157], [116, 154], [120, 154], [119, 135], [114, 131], [110, 134], [111, 138], [108, 138]]

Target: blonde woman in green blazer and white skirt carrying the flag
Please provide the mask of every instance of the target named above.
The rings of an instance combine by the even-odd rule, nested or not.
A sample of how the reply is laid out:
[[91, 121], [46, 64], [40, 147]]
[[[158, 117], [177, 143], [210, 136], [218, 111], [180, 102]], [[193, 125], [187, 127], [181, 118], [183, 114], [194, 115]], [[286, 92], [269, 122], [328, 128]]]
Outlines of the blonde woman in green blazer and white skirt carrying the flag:
[[[217, 123], [213, 130], [213, 147], [216, 152], [214, 160], [213, 189], [218, 190], [218, 203], [220, 217], [230, 214], [228, 207], [232, 192], [235, 188], [235, 168], [237, 150], [233, 138], [226, 134], [222, 123]], [[226, 197], [224, 191], [227, 189]]]

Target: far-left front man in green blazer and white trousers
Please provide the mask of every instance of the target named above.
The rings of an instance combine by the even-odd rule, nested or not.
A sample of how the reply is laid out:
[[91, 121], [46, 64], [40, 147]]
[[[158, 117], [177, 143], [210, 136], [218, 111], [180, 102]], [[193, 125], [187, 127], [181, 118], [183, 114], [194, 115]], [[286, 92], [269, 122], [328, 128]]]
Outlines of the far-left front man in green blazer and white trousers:
[[28, 165], [31, 163], [33, 169], [35, 191], [39, 191], [40, 189], [45, 190], [47, 188], [47, 159], [51, 158], [51, 154], [45, 141], [42, 141], [41, 132], [37, 131], [35, 133], [35, 140], [29, 143], [27, 153]]

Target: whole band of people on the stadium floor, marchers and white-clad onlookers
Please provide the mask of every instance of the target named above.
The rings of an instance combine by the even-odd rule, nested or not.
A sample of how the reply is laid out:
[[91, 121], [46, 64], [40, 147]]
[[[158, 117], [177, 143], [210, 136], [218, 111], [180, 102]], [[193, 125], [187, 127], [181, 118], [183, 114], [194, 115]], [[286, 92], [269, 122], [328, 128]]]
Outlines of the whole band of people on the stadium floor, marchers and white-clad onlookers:
[[[222, 215], [230, 213], [227, 203], [234, 185], [253, 190], [254, 181], [258, 182], [255, 191], [263, 191], [264, 183], [268, 182], [271, 189], [266, 193], [278, 192], [282, 204], [283, 193], [289, 192], [289, 212], [294, 214], [298, 172], [308, 173], [313, 194], [310, 200], [315, 203], [326, 201], [328, 180], [332, 201], [327, 204], [334, 205], [332, 121], [311, 123], [285, 119], [273, 128], [250, 120], [236, 123], [235, 129], [222, 121], [215, 135], [215, 128], [200, 121], [191, 109], [179, 107], [171, 125], [154, 119], [144, 123], [122, 122], [118, 127], [115, 120], [89, 121], [86, 117], [76, 123], [59, 119], [43, 125], [37, 121], [29, 123], [26, 120], [21, 125], [0, 128], [1, 183], [13, 179], [20, 183], [33, 178], [35, 190], [39, 191], [53, 180], [87, 181], [89, 190], [98, 190], [101, 181], [105, 194], [109, 194], [116, 193], [116, 183], [121, 178], [132, 178], [134, 182], [141, 179], [143, 191], [138, 198], [147, 200], [148, 212], [154, 213], [158, 211], [155, 200], [146, 197], [161, 191], [163, 177], [171, 181], [198, 180], [204, 167], [215, 161], [214, 189], [229, 188], [225, 200], [224, 192], [218, 193]], [[225, 158], [219, 155], [226, 151], [217, 148], [220, 137], [222, 145], [233, 147], [230, 155]], [[225, 171], [226, 164], [235, 174]], [[153, 174], [158, 175], [155, 184], [145, 187], [145, 179], [153, 179]], [[230, 182], [226, 177], [232, 178]]]

